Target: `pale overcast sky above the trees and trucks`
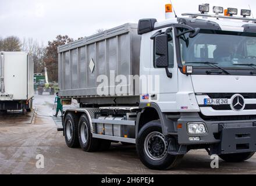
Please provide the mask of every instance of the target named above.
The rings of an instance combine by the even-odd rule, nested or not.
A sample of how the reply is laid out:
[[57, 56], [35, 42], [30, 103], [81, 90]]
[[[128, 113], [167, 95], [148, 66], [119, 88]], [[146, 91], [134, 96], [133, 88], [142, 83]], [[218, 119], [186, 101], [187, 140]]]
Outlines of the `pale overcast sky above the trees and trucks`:
[[[39, 42], [58, 34], [77, 39], [94, 34], [98, 28], [137, 23], [142, 18], [165, 19], [168, 0], [0, 0], [0, 37], [16, 35]], [[209, 3], [224, 8], [248, 9], [256, 17], [256, 0], [172, 0], [177, 15], [197, 12], [198, 5]]]

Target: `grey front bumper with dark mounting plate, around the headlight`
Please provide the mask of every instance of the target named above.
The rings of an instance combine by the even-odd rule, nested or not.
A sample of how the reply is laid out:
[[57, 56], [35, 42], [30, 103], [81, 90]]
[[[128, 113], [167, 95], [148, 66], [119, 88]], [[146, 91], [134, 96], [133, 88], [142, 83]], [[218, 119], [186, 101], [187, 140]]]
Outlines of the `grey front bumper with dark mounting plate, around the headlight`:
[[[189, 134], [187, 123], [202, 122], [207, 134]], [[182, 128], [177, 129], [180, 145], [209, 145], [211, 154], [256, 152], [256, 120], [204, 121], [198, 113], [182, 114], [178, 120]], [[200, 137], [199, 141], [190, 141], [190, 137]]]

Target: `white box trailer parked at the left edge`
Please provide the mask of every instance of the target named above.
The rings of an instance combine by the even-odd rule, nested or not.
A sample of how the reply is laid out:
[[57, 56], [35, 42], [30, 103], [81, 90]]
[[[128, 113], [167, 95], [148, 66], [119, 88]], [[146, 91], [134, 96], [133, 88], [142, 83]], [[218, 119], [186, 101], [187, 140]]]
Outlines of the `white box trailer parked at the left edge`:
[[0, 110], [31, 111], [34, 63], [27, 52], [1, 52]]

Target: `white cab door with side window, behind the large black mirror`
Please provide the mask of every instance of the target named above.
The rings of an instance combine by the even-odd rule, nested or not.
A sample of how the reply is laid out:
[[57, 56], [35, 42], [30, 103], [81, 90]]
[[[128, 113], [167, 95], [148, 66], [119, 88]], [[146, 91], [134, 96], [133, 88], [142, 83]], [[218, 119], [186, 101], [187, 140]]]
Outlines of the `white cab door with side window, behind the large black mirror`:
[[[164, 33], [168, 28], [160, 29]], [[171, 30], [171, 29], [169, 29]], [[158, 32], [159, 30], [156, 30]], [[173, 29], [168, 31], [168, 61], [169, 72], [172, 73], [172, 78], [166, 74], [165, 68], [158, 68], [155, 65], [155, 40], [151, 40], [151, 70], [150, 75], [152, 79], [149, 95], [151, 101], [156, 102], [162, 112], [175, 112], [176, 107], [176, 93], [178, 91], [177, 85], [177, 59], [175, 48], [175, 34]]]

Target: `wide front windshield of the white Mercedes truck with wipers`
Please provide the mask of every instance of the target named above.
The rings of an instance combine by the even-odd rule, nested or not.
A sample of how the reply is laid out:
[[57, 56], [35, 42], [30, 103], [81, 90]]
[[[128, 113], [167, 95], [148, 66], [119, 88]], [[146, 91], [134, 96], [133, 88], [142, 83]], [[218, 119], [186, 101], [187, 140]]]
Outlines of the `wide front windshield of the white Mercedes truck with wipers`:
[[183, 65], [256, 69], [256, 34], [233, 31], [201, 30], [194, 37], [180, 37]]

